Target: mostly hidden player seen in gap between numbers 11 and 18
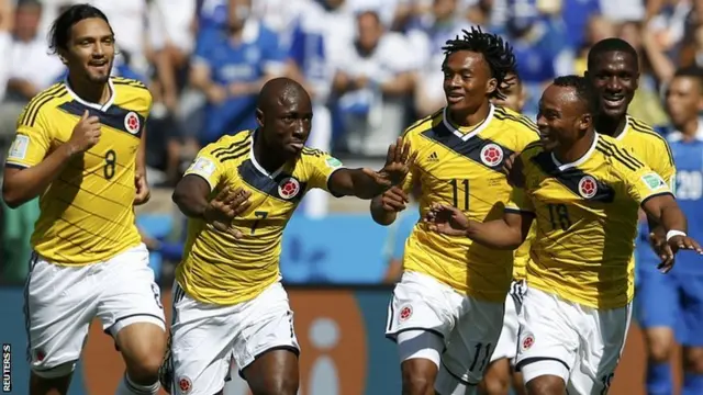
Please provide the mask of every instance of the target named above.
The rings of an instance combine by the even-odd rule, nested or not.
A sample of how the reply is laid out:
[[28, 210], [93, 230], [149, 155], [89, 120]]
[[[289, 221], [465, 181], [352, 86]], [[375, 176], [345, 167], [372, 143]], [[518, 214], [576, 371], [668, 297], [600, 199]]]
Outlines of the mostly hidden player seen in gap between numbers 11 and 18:
[[[523, 89], [522, 80], [516, 72], [509, 72], [506, 82], [501, 87], [504, 98], [493, 98], [491, 102], [521, 113], [525, 105], [526, 91]], [[479, 385], [481, 393], [486, 395], [507, 395], [511, 386], [511, 375], [513, 390], [517, 394], [524, 393], [522, 374], [514, 371], [515, 356], [517, 354], [517, 314], [522, 305], [523, 292], [525, 290], [525, 267], [529, 261], [529, 241], [534, 237], [534, 226], [529, 236], [515, 251], [513, 259], [513, 282], [510, 293], [505, 298], [505, 315], [503, 317], [503, 329], [495, 345], [495, 350], [491, 356], [491, 361], [486, 370], [483, 381]]]

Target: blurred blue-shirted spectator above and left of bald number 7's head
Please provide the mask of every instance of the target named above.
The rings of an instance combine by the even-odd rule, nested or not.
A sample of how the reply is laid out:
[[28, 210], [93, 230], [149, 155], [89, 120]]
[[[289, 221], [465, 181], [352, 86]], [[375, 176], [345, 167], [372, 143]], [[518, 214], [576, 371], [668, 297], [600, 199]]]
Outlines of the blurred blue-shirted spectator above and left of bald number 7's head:
[[252, 18], [252, 0], [230, 0], [227, 29], [200, 32], [190, 82], [207, 98], [201, 145], [256, 126], [256, 97], [283, 72], [276, 33]]

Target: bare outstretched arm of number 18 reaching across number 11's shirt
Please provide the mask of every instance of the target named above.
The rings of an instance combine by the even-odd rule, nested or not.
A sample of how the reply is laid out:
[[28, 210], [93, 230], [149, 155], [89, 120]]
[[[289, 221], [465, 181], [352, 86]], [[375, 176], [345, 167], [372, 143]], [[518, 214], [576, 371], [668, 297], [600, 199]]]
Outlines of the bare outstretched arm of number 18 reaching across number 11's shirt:
[[447, 204], [433, 205], [425, 217], [431, 230], [466, 236], [480, 245], [501, 250], [517, 249], [527, 238], [533, 219], [532, 213], [506, 211], [501, 219], [480, 223]]

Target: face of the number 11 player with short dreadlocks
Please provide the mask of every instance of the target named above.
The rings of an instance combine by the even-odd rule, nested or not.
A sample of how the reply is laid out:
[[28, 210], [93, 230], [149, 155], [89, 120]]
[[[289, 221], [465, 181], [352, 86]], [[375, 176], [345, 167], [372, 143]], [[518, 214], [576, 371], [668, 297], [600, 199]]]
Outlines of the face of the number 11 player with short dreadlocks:
[[470, 50], [449, 54], [442, 71], [447, 108], [460, 116], [478, 111], [498, 84], [483, 55]]

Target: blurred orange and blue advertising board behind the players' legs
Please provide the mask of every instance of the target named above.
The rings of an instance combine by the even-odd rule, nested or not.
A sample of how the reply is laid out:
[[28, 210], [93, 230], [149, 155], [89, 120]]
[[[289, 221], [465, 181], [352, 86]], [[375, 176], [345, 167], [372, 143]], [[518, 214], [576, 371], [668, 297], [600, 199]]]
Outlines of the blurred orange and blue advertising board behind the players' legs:
[[[400, 394], [394, 345], [383, 336], [390, 298], [388, 286], [288, 286], [302, 348], [301, 395]], [[163, 303], [170, 319], [170, 291]], [[0, 341], [10, 346], [12, 393], [26, 394], [29, 365], [21, 287], [0, 289]], [[69, 395], [112, 394], [123, 373], [112, 339], [93, 323]], [[611, 394], [644, 395], [643, 338], [633, 325]], [[233, 372], [225, 395], [248, 395]]]

